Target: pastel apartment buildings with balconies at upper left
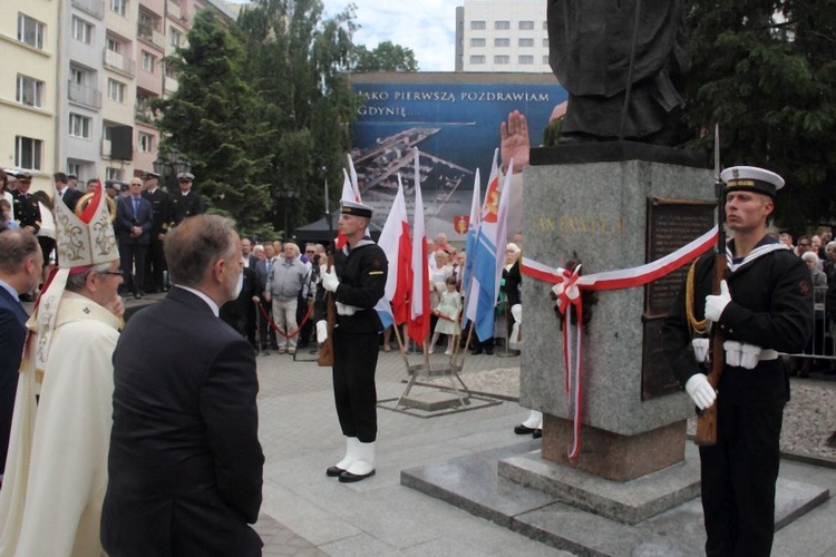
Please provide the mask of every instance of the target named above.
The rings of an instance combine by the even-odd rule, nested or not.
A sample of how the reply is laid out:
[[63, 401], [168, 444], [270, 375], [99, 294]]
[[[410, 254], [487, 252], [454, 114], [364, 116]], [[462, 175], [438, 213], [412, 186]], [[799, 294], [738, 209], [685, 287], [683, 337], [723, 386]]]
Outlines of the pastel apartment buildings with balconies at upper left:
[[0, 167], [127, 182], [153, 168], [150, 104], [177, 90], [163, 59], [186, 46], [195, 11], [223, 0], [10, 0], [0, 21]]

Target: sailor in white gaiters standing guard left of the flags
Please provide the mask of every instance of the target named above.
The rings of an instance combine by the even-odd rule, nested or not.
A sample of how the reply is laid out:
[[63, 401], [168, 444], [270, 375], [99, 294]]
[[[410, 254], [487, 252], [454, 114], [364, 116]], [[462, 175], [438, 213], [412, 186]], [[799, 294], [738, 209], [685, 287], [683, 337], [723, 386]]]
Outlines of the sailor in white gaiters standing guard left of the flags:
[[[383, 297], [389, 263], [383, 250], [366, 235], [371, 207], [346, 202], [340, 207], [340, 233], [348, 237], [334, 253], [331, 272], [320, 267], [322, 287], [333, 292], [337, 322], [333, 329], [333, 391], [337, 416], [346, 436], [346, 457], [325, 475], [342, 482], [375, 475], [377, 391], [375, 370], [383, 325], [375, 305]], [[318, 328], [322, 342], [324, 328]]]

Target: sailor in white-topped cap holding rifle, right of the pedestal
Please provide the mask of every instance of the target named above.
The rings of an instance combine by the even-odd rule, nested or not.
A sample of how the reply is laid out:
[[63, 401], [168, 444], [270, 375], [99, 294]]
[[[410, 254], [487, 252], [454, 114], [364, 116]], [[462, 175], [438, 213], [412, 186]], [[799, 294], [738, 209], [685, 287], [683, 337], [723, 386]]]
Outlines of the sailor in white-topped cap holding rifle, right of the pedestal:
[[[767, 235], [784, 179], [750, 166], [727, 168], [728, 271], [711, 292], [713, 255], [697, 261], [665, 320], [662, 336], [672, 372], [699, 409], [717, 404], [717, 444], [700, 447], [706, 554], [769, 555], [775, 532], [779, 437], [789, 383], [779, 352], [800, 352], [813, 330], [813, 284], [803, 261]], [[686, 306], [687, 291], [693, 306]], [[690, 312], [690, 315], [689, 315]], [[722, 332], [726, 365], [717, 391], [700, 362], [708, 320]], [[702, 351], [704, 353], [704, 350]]]

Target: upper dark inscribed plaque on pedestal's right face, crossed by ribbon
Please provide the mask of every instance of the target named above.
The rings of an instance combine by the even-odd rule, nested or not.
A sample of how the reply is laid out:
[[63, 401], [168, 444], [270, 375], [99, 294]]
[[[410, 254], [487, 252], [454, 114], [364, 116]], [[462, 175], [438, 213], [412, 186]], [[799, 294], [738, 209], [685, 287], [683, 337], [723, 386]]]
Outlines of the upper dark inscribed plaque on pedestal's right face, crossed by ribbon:
[[[669, 255], [697, 240], [715, 225], [717, 205], [688, 199], [648, 199], [647, 262]], [[644, 313], [663, 316], [677, 297], [688, 265], [644, 287]]]

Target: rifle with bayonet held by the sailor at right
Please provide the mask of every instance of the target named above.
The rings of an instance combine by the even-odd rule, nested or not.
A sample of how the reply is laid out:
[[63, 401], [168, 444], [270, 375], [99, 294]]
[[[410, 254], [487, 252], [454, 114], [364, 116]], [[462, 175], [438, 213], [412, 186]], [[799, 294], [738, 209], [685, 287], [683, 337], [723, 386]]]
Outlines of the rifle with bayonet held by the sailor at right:
[[[715, 252], [715, 276], [711, 292], [720, 293], [720, 282], [726, 278], [726, 196], [720, 179], [720, 125], [715, 126], [715, 192], [717, 193], [717, 251]], [[726, 365], [726, 350], [722, 346], [722, 333], [717, 323], [711, 330], [711, 371], [709, 384], [717, 390], [720, 375]], [[717, 402], [697, 414], [697, 433], [693, 442], [700, 446], [717, 444]]]

